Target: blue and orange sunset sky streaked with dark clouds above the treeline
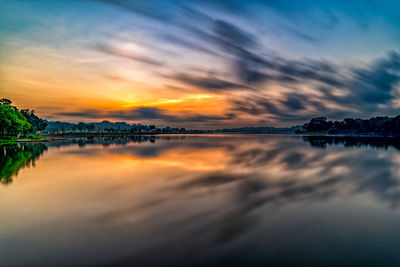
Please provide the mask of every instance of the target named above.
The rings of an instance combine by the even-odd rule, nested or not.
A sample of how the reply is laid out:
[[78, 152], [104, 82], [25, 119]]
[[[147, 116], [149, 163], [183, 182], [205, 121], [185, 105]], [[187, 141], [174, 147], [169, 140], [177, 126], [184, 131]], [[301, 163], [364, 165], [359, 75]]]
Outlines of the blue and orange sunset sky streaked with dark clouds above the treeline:
[[400, 114], [399, 1], [2, 0], [0, 97], [194, 129]]

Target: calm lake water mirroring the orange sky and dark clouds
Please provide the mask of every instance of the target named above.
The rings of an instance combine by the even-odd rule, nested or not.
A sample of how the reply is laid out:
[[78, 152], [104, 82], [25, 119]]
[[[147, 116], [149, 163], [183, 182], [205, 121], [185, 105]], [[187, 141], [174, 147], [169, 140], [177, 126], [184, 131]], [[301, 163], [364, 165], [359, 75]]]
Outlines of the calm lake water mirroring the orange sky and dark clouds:
[[268, 135], [3, 146], [0, 266], [398, 266], [399, 147]]

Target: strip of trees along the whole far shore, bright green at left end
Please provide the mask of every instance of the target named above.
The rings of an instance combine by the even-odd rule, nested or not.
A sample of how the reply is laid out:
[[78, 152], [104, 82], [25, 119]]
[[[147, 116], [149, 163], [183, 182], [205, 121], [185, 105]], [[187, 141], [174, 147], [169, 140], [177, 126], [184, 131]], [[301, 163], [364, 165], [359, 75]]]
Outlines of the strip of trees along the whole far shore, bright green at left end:
[[126, 122], [62, 122], [39, 118], [34, 110], [12, 105], [11, 100], [0, 99], [0, 145], [31, 142], [50, 142], [70, 138], [132, 137], [159, 134], [296, 134], [302, 136], [337, 137], [400, 137], [400, 115], [390, 118], [346, 118], [328, 121], [326, 117], [311, 119], [303, 126], [292, 127], [240, 127], [215, 130], [192, 130], [155, 125], [128, 124]]

